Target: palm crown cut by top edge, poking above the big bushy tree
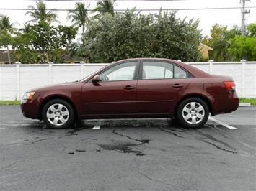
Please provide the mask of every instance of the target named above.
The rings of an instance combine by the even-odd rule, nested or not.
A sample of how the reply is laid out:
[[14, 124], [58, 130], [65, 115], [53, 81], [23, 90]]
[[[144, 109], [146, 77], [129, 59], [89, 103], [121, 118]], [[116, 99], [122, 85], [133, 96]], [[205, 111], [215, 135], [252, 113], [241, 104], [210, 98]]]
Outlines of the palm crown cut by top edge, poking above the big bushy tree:
[[101, 0], [97, 2], [96, 8], [94, 9], [94, 12], [99, 12], [99, 14], [106, 14], [109, 13], [111, 15], [114, 15], [114, 3], [115, 0]]

